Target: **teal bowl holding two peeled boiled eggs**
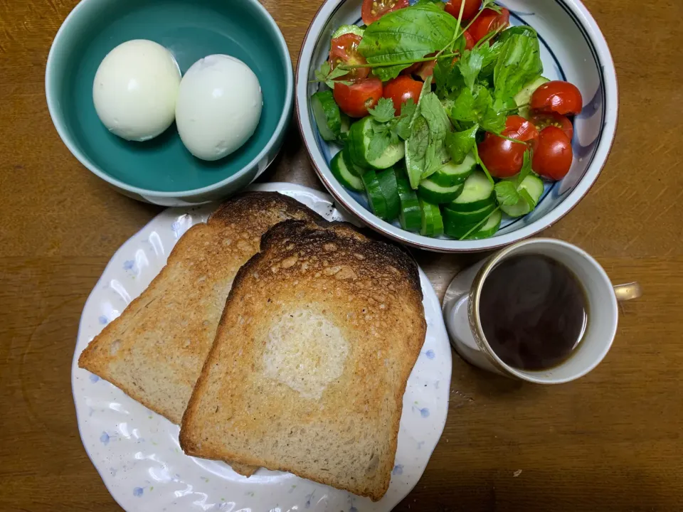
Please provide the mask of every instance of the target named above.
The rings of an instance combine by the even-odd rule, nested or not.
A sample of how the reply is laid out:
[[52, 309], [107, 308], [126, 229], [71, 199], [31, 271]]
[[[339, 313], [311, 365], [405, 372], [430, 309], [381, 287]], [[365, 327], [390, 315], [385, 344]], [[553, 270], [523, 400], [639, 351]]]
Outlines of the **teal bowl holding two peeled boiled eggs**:
[[[207, 162], [187, 151], [175, 124], [147, 142], [111, 134], [95, 112], [92, 82], [105, 55], [130, 39], [165, 46], [183, 73], [214, 53], [246, 63], [263, 90], [253, 137]], [[48, 109], [71, 153], [117, 191], [163, 206], [229, 196], [265, 171], [282, 146], [293, 91], [285, 38], [257, 0], [83, 0], [55, 36], [46, 68]]]

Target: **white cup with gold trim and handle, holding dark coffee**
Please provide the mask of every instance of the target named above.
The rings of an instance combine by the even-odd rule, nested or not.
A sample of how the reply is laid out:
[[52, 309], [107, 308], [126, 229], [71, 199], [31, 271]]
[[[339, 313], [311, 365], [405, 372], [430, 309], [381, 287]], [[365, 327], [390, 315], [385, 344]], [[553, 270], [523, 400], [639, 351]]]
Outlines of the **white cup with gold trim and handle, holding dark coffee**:
[[[586, 292], [588, 325], [581, 343], [563, 363], [547, 370], [521, 370], [504, 363], [487, 342], [480, 321], [482, 287], [492, 270], [509, 257], [541, 255], [567, 267]], [[539, 384], [561, 384], [583, 377], [603, 361], [617, 332], [618, 301], [642, 295], [638, 283], [613, 286], [587, 252], [561, 240], [532, 238], [497, 252], [457, 274], [443, 299], [443, 315], [452, 344], [460, 356], [485, 370]]]

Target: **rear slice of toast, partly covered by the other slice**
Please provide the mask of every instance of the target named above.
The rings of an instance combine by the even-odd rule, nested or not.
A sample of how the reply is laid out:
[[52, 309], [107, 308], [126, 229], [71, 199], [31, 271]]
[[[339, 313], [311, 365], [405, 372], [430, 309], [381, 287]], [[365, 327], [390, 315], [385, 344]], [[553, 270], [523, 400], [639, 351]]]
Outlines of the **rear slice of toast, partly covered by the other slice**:
[[235, 274], [258, 252], [261, 235], [287, 219], [322, 217], [274, 192], [243, 193], [223, 203], [178, 240], [162, 272], [95, 336], [78, 366], [180, 424]]

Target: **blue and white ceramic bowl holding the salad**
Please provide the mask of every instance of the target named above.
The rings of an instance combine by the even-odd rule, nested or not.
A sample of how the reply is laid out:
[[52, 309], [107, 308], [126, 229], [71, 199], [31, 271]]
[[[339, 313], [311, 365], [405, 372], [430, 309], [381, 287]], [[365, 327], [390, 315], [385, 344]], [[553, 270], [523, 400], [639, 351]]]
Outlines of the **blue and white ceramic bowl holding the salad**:
[[339, 151], [318, 132], [310, 104], [311, 95], [325, 87], [314, 80], [314, 71], [329, 53], [332, 32], [342, 24], [361, 20], [361, 0], [327, 0], [317, 12], [301, 48], [297, 68], [297, 118], [302, 137], [318, 176], [346, 210], [383, 235], [414, 247], [438, 252], [492, 250], [549, 228], [586, 196], [607, 161], [617, 127], [618, 90], [614, 63], [603, 33], [579, 0], [501, 0], [511, 11], [513, 25], [530, 25], [539, 33], [544, 76], [567, 80], [583, 95], [583, 112], [574, 122], [574, 161], [562, 181], [548, 183], [539, 205], [519, 219], [504, 219], [500, 231], [487, 240], [429, 238], [387, 223], [369, 209], [360, 193], [346, 190], [332, 176], [329, 161]]

